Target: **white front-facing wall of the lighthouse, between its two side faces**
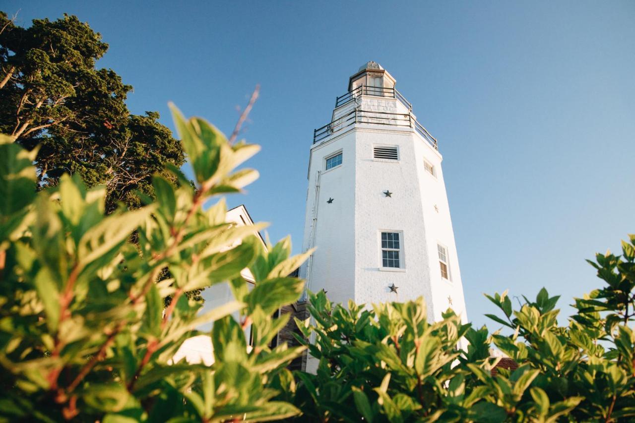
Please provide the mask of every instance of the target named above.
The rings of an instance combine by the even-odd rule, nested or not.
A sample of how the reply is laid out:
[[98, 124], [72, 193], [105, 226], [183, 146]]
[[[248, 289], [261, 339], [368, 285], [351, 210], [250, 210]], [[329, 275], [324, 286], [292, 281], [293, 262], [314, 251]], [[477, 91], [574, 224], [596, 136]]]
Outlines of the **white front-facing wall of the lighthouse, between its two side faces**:
[[[415, 144], [408, 130], [359, 128], [356, 133], [356, 278], [355, 300], [366, 304], [423, 296], [432, 318], [431, 273], [425, 243], [420, 177]], [[398, 147], [399, 160], [373, 158], [375, 146]], [[391, 192], [387, 197], [384, 192]], [[403, 268], [381, 267], [380, 232], [402, 234]], [[397, 293], [389, 286], [398, 286]]]

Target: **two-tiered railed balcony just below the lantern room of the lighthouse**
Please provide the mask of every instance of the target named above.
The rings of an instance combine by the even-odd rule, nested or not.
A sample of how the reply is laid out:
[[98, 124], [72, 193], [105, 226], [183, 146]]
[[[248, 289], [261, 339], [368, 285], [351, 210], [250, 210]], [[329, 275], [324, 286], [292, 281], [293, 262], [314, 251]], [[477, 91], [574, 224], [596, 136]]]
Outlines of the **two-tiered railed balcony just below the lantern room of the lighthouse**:
[[[363, 102], [359, 102], [361, 98], [381, 97], [385, 99], [394, 98], [401, 102], [406, 107], [408, 113], [398, 112], [382, 112], [364, 110]], [[353, 104], [352, 102], [355, 102]], [[349, 105], [353, 107], [342, 107]], [[313, 131], [313, 144], [323, 142], [331, 135], [340, 133], [342, 130], [350, 128], [356, 124], [373, 124], [382, 126], [399, 126], [405, 128], [412, 128], [422, 138], [424, 138], [432, 148], [438, 150], [437, 140], [424, 128], [424, 126], [418, 123], [416, 117], [412, 113], [412, 105], [406, 100], [406, 98], [399, 93], [395, 88], [384, 88], [376, 86], [361, 85], [354, 90], [349, 91], [345, 95], [337, 97], [335, 100], [335, 109], [342, 111], [337, 115], [333, 114], [333, 120], [330, 123], [325, 124], [321, 128]]]

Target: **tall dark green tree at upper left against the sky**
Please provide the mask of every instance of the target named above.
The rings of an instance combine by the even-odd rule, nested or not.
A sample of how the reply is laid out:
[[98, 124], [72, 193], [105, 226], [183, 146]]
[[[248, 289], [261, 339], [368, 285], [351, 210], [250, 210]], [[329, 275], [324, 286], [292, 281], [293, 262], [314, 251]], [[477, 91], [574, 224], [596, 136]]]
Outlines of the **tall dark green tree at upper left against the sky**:
[[136, 192], [152, 195], [152, 175], [184, 154], [157, 112], [130, 114], [130, 85], [95, 67], [107, 49], [75, 16], [22, 28], [0, 12], [0, 132], [39, 147], [37, 184], [79, 173], [88, 187], [105, 185], [110, 212], [117, 201], [140, 207]]

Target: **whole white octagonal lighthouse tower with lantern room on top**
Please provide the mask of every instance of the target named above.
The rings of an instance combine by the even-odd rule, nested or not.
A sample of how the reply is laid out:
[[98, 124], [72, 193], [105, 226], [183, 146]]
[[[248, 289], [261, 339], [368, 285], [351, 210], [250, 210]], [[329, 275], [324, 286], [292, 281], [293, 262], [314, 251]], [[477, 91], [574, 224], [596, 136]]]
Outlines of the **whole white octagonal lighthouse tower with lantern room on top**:
[[333, 302], [424, 297], [428, 317], [467, 320], [437, 140], [395, 79], [368, 62], [314, 131], [300, 269]]

